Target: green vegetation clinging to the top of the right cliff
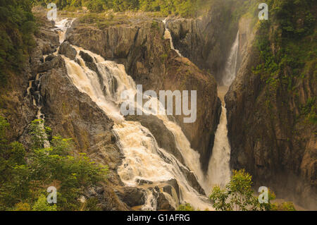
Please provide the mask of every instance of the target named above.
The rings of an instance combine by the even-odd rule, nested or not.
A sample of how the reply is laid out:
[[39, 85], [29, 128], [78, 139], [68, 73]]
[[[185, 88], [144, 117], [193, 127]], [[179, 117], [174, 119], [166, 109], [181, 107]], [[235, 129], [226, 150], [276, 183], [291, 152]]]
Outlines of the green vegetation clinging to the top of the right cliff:
[[[263, 20], [259, 27], [256, 47], [261, 62], [254, 69], [261, 75], [270, 91], [268, 99], [275, 97], [277, 90], [297, 96], [299, 83], [311, 80], [316, 84], [317, 32], [316, 11], [313, 0], [268, 1], [269, 20]], [[315, 99], [307, 99], [302, 114], [308, 121], [317, 121]]]

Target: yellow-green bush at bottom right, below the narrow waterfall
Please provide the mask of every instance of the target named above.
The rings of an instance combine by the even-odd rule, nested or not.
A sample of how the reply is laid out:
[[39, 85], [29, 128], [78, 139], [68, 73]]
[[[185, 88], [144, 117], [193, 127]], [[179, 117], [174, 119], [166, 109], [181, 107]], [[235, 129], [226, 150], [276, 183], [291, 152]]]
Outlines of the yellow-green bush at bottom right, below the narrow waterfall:
[[251, 210], [295, 210], [292, 202], [282, 204], [271, 203], [275, 194], [268, 190], [268, 203], [259, 203], [258, 197], [252, 190], [252, 177], [244, 171], [232, 171], [233, 175], [225, 188], [213, 187], [210, 199], [213, 200], [213, 207], [223, 211], [251, 211]]

